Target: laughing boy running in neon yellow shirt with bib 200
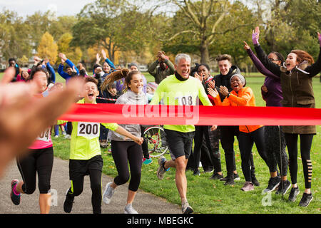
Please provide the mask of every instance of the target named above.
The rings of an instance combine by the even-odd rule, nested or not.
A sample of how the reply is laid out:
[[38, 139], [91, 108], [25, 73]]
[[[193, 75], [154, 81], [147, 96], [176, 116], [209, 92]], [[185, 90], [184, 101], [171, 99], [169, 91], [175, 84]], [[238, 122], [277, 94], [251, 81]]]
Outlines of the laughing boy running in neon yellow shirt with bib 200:
[[[98, 92], [98, 81], [95, 78], [85, 78], [83, 88], [83, 99], [78, 103], [96, 104]], [[91, 181], [91, 203], [94, 214], [101, 213], [101, 172], [103, 168], [103, 158], [101, 157], [101, 147], [99, 145], [100, 123], [73, 122], [71, 133], [71, 151], [69, 157], [69, 177], [71, 187], [66, 193], [63, 203], [63, 210], [70, 213], [73, 207], [75, 196], [81, 195], [83, 191], [83, 177], [90, 176]], [[118, 134], [131, 138], [138, 145], [141, 145], [143, 138], [138, 138], [116, 123], [103, 123], [106, 128]]]

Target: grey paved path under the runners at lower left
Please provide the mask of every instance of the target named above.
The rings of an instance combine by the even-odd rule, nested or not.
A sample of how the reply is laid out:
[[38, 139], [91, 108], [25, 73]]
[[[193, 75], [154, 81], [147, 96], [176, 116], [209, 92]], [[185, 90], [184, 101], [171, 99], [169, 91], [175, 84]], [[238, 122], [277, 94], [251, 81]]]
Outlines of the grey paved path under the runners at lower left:
[[[13, 161], [6, 169], [4, 177], [0, 180], [0, 214], [37, 214], [39, 213], [39, 190], [37, 187], [33, 195], [23, 195], [21, 204], [14, 205], [10, 199], [11, 180], [21, 180], [21, 175], [16, 167], [16, 162]], [[103, 175], [103, 190], [105, 190], [106, 183], [111, 182], [112, 177]], [[51, 189], [52, 189], [52, 204], [51, 214], [64, 214], [63, 201], [65, 199], [66, 190], [70, 187], [68, 175], [68, 161], [61, 160], [58, 157], [54, 158], [54, 167], [51, 175]], [[123, 208], [126, 204], [128, 192], [128, 185], [121, 185], [116, 189], [113, 195], [111, 204], [104, 204], [102, 202], [103, 214], [123, 214]], [[155, 197], [149, 193], [138, 190], [136, 199], [133, 202], [133, 207], [140, 214], [181, 214], [180, 206], [170, 204], [165, 199]], [[91, 214], [91, 188], [89, 177], [85, 177], [83, 186], [83, 193], [75, 198], [73, 204], [73, 214]]]

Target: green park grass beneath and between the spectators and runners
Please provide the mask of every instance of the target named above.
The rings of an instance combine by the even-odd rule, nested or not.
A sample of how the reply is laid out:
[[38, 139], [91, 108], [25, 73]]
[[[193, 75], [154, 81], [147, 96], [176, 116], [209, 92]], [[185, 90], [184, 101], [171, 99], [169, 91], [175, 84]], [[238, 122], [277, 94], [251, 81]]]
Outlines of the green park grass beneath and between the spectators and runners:
[[[148, 81], [153, 81], [153, 77], [148, 73], [144, 73]], [[1, 78], [1, 75], [0, 75]], [[62, 79], [62, 80], [61, 80]], [[57, 76], [57, 81], [63, 82], [63, 78]], [[260, 95], [260, 86], [262, 86], [263, 77], [250, 77], [247, 78], [248, 86], [253, 89], [255, 94], [256, 103], [258, 106], [265, 106], [265, 102]], [[321, 108], [321, 83], [319, 78], [314, 78], [313, 81], [316, 107]], [[253, 147], [255, 171], [260, 182], [260, 187], [255, 187], [253, 192], [242, 192], [240, 188], [245, 182], [243, 173], [241, 170], [240, 151], [238, 150], [238, 142], [235, 140], [235, 160], [238, 173], [240, 175], [240, 181], [231, 186], [224, 186], [223, 182], [208, 180], [211, 174], [202, 172], [198, 177], [193, 176], [193, 172], [186, 172], [188, 180], [188, 201], [192, 205], [196, 213], [210, 214], [210, 213], [224, 213], [224, 214], [320, 214], [320, 197], [321, 197], [321, 126], [317, 126], [317, 135], [312, 142], [311, 158], [313, 166], [312, 174], [312, 194], [314, 199], [307, 208], [298, 207], [297, 204], [300, 202], [302, 192], [304, 191], [304, 178], [302, 171], [302, 163], [300, 160], [300, 153], [298, 156], [298, 173], [297, 173], [297, 184], [300, 187], [300, 195], [297, 198], [297, 202], [287, 202], [287, 195], [284, 199], [275, 192], [272, 195], [261, 195], [262, 190], [267, 186], [269, 178], [269, 171], [267, 166], [258, 155], [256, 147]], [[57, 157], [61, 157], [68, 160], [69, 155], [69, 140], [65, 140], [62, 137], [53, 138], [54, 141], [54, 153]], [[300, 147], [300, 144], [299, 144]], [[221, 151], [222, 169], [224, 175], [225, 172], [225, 158], [223, 150]], [[111, 157], [111, 153], [107, 152], [106, 149], [102, 150], [104, 167], [103, 172], [106, 175], [115, 177], [117, 170]], [[166, 155], [166, 157], [169, 156]], [[168, 202], [174, 204], [180, 204], [180, 197], [175, 187], [175, 169], [171, 169], [166, 172], [164, 180], [158, 180], [156, 177], [156, 170], [158, 168], [157, 159], [153, 158], [151, 165], [143, 165], [140, 190], [151, 192], [151, 194], [158, 197], [162, 197]], [[201, 171], [203, 171], [201, 169]], [[54, 173], [53, 173], [54, 175]], [[290, 180], [290, 172], [288, 174]], [[105, 185], [106, 183], [103, 183]], [[138, 193], [139, 194], [139, 193]], [[265, 198], [264, 198], [265, 197]], [[262, 203], [263, 199], [270, 197], [271, 206], [267, 206]], [[263, 200], [264, 201], [264, 200]], [[268, 202], [268, 201], [264, 201]]]

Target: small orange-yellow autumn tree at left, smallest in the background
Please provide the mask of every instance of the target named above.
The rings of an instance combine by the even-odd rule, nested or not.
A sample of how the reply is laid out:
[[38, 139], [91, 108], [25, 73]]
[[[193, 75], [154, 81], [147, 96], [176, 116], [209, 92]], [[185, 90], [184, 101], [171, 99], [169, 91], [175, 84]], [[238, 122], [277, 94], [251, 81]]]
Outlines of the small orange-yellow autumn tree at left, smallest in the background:
[[44, 33], [38, 46], [38, 56], [40, 58], [49, 58], [49, 61], [56, 62], [58, 55], [58, 46], [49, 32]]

